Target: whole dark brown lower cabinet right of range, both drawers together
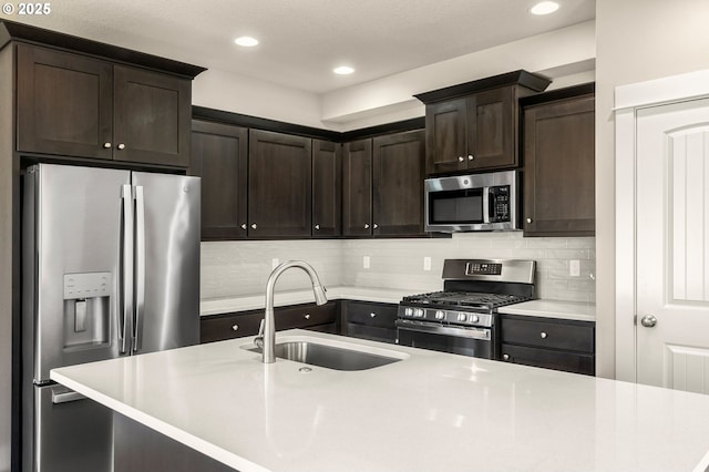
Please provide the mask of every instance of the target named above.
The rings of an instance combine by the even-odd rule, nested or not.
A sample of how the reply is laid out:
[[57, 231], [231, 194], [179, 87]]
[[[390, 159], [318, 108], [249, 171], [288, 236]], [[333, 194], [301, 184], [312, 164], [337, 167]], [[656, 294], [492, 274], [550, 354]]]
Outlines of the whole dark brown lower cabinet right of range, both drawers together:
[[502, 360], [596, 373], [595, 322], [501, 315]]

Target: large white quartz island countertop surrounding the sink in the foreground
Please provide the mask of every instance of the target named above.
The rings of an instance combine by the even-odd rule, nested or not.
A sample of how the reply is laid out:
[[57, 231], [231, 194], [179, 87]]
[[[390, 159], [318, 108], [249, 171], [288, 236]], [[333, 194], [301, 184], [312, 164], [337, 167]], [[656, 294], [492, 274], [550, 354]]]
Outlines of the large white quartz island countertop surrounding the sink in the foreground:
[[54, 369], [51, 378], [242, 472], [705, 471], [709, 396], [281, 331], [404, 360], [263, 365], [233, 339]]

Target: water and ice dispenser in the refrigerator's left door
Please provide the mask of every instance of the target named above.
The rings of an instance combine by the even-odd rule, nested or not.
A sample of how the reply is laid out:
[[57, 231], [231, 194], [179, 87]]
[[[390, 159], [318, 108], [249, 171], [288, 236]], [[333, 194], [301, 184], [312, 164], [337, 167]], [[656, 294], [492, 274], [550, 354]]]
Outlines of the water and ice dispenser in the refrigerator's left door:
[[64, 348], [109, 342], [111, 273], [64, 274]]

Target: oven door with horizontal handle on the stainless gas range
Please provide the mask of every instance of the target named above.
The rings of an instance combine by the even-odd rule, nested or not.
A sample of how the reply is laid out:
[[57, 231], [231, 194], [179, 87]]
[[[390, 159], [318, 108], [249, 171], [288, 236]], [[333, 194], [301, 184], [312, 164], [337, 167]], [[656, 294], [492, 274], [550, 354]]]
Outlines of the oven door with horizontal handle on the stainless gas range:
[[397, 343], [412, 348], [495, 359], [495, 341], [490, 328], [467, 328], [398, 319]]

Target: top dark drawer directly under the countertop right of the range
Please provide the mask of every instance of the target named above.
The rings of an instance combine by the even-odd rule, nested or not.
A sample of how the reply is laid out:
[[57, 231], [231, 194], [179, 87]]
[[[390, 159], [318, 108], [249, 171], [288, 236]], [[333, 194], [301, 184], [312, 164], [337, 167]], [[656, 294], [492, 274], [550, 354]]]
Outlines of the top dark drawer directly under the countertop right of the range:
[[592, 322], [502, 317], [501, 325], [503, 343], [594, 352]]

